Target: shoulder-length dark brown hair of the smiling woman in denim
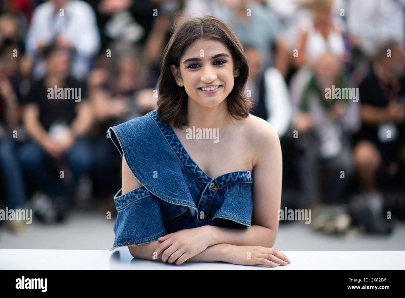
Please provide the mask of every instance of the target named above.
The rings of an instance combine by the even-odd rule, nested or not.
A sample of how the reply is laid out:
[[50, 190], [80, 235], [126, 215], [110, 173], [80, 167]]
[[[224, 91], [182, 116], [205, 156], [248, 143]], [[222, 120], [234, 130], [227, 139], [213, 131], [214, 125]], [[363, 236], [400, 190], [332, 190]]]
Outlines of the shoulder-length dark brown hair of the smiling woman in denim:
[[232, 54], [234, 65], [239, 66], [239, 76], [234, 78], [234, 87], [227, 98], [229, 114], [236, 119], [245, 118], [249, 116], [252, 106], [252, 102], [243, 94], [249, 67], [245, 51], [234, 32], [223, 21], [211, 15], [187, 19], [175, 28], [164, 49], [158, 80], [158, 116], [163, 122], [173, 123], [179, 129], [188, 125], [188, 95], [183, 87], [177, 85], [170, 66], [174, 64], [179, 68], [185, 50], [199, 38], [224, 43]]

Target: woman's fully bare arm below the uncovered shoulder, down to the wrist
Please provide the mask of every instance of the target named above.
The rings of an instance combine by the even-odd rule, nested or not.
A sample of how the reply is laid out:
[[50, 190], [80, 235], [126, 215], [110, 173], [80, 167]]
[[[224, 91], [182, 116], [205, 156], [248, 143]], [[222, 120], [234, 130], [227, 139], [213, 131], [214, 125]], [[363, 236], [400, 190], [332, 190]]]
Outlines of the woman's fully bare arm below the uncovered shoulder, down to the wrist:
[[246, 229], [209, 226], [211, 245], [227, 243], [237, 246], [273, 247], [278, 232], [278, 210], [281, 204], [282, 155], [279, 137], [265, 120], [252, 117], [247, 127], [254, 155], [252, 226]]

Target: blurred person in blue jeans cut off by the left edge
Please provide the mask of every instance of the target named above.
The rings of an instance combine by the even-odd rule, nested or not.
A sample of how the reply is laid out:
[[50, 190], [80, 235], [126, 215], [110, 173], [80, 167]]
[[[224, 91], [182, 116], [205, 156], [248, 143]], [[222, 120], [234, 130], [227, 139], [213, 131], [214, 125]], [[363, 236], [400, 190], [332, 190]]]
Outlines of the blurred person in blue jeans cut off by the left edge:
[[[24, 139], [20, 129], [19, 62], [23, 56], [17, 18], [10, 13], [0, 16], [0, 177], [6, 206], [22, 209], [27, 203], [23, 173], [17, 150]], [[25, 221], [7, 221], [13, 232], [26, 227]]]

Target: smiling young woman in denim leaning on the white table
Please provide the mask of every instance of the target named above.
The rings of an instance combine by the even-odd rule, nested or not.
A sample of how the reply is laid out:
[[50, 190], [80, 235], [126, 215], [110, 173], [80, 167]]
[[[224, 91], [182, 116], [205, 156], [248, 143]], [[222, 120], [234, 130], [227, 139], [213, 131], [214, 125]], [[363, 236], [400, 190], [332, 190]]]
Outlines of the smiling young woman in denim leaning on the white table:
[[[187, 19], [165, 48], [158, 109], [110, 128], [123, 157], [112, 249], [163, 262], [276, 267], [281, 148], [249, 114], [248, 66], [234, 32], [213, 16]], [[216, 130], [220, 141], [187, 137]], [[254, 179], [253, 179], [254, 174]]]

